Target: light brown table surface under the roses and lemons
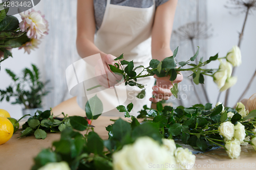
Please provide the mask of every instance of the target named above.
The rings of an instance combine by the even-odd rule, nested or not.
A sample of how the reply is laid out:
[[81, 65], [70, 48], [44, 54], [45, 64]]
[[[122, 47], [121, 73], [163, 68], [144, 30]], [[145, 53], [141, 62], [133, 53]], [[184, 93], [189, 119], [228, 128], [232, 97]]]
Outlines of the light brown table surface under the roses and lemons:
[[[94, 131], [102, 139], [108, 139], [108, 131], [105, 130], [105, 127], [113, 124], [110, 119], [118, 119], [118, 117], [100, 116], [97, 120], [93, 120], [92, 124], [95, 126]], [[31, 169], [34, 164], [33, 158], [41, 149], [51, 147], [52, 142], [60, 138], [60, 133], [47, 133], [45, 140], [35, 139], [34, 135], [17, 138], [20, 136], [19, 132], [20, 130], [13, 134], [9, 141], [0, 145], [0, 170]], [[85, 134], [86, 131], [81, 133]], [[238, 163], [237, 166], [236, 163]], [[245, 163], [247, 168], [244, 166]], [[248, 163], [250, 163], [251, 168], [248, 167]], [[254, 163], [254, 166], [252, 163]], [[230, 167], [228, 167], [228, 164]], [[230, 159], [225, 150], [219, 148], [214, 151], [197, 154], [196, 167], [193, 169], [256, 169], [256, 152], [251, 145], [248, 145], [242, 147], [239, 158]]]

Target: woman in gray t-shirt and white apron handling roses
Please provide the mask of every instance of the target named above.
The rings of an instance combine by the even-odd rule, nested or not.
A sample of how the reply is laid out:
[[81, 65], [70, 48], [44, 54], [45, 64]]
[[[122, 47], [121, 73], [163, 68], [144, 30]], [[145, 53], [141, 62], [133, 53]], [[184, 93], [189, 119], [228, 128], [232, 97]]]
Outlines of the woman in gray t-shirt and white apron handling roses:
[[[104, 69], [106, 75], [109, 75], [100, 78], [100, 85], [106, 88], [115, 85], [115, 75], [109, 64], [114, 65], [114, 59], [122, 53], [125, 60], [134, 61], [135, 67], [148, 66], [152, 58], [161, 61], [172, 56], [170, 36], [177, 2], [178, 0], [77, 1], [77, 51], [82, 58], [100, 54], [103, 68], [96, 65], [95, 70]], [[123, 104], [134, 104], [132, 115], [136, 116], [143, 105], [150, 107], [151, 102], [168, 100], [172, 95], [170, 89], [173, 84], [169, 77], [158, 78], [155, 75], [154, 78], [141, 78], [137, 81], [147, 85], [144, 99], [127, 99]], [[173, 83], [179, 83], [182, 79], [180, 74]], [[140, 90], [134, 87], [126, 88], [127, 92], [130, 92], [127, 93], [128, 96], [136, 96]], [[152, 98], [152, 94], [155, 98]], [[109, 104], [112, 97], [105, 95]], [[77, 102], [84, 109], [87, 99], [78, 97]], [[117, 115], [116, 111], [111, 110], [107, 114]]]

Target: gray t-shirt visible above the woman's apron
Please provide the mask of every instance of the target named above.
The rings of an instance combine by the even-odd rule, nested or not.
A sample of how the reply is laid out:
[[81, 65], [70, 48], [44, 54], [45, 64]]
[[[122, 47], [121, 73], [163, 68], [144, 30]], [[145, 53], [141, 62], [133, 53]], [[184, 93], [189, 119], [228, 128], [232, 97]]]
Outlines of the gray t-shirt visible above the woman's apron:
[[[98, 30], [101, 26], [103, 16], [105, 13], [107, 0], [94, 0], [94, 17], [96, 22], [96, 30]], [[121, 5], [127, 7], [135, 7], [135, 8], [149, 8], [154, 2], [156, 2], [156, 7], [164, 4], [168, 0], [111, 0], [111, 4]]]

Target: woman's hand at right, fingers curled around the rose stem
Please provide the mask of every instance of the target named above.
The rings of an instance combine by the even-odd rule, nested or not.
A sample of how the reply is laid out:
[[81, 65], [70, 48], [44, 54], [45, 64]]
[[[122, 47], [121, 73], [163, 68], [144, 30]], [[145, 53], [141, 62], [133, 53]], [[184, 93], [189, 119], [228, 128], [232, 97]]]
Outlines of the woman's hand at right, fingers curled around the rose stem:
[[173, 95], [170, 89], [173, 88], [173, 84], [179, 83], [183, 80], [183, 75], [179, 72], [173, 83], [169, 81], [170, 76], [160, 78], [155, 75], [154, 78], [157, 79], [156, 85], [153, 86], [154, 91], [152, 92], [155, 98], [150, 98], [150, 101], [157, 103], [161, 100], [168, 100], [170, 96]]

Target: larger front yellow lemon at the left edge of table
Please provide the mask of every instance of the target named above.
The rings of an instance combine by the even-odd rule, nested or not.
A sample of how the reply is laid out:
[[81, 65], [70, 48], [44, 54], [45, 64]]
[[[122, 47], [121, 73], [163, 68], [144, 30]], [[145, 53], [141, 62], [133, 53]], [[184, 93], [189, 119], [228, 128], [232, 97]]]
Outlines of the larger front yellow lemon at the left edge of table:
[[7, 142], [12, 137], [13, 130], [10, 120], [0, 116], [0, 144]]

